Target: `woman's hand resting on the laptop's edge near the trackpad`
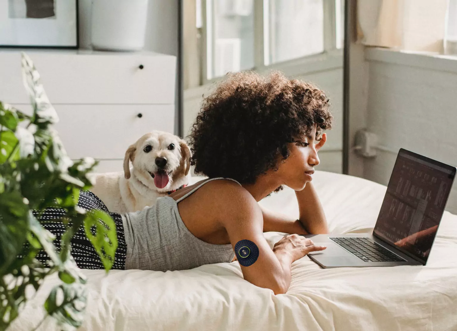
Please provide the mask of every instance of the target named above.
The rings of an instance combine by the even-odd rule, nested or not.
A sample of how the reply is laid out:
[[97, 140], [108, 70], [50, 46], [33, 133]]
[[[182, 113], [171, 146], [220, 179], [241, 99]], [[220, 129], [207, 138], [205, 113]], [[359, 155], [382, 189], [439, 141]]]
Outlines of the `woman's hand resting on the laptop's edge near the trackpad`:
[[327, 246], [315, 246], [313, 240], [302, 235], [293, 234], [282, 237], [273, 247], [273, 252], [277, 255], [289, 255], [292, 263], [309, 252], [323, 251], [326, 248]]

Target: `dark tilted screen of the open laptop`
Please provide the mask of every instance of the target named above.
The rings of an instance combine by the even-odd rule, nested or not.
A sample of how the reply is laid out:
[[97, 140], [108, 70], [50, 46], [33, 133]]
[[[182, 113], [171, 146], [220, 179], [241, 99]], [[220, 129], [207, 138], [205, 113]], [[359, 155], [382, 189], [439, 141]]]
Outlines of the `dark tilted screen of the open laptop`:
[[456, 168], [400, 149], [373, 234], [427, 262]]

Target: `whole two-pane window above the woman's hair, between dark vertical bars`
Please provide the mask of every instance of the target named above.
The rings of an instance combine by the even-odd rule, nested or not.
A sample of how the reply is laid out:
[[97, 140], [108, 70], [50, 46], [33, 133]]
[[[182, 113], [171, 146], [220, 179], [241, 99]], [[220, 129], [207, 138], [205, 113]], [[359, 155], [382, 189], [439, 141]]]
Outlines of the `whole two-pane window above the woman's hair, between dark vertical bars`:
[[344, 0], [197, 0], [202, 83], [342, 48]]

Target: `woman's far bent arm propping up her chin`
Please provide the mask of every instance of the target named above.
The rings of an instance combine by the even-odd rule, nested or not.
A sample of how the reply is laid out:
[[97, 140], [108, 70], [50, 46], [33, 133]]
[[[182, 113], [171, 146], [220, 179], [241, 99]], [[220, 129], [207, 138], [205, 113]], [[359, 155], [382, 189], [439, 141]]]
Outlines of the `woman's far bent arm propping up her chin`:
[[296, 233], [298, 235], [328, 233], [327, 220], [324, 208], [319, 201], [316, 190], [311, 182], [308, 182], [302, 191], [296, 191], [298, 201], [299, 219], [293, 219], [287, 215], [272, 212], [261, 207], [263, 214], [263, 231], [277, 231], [284, 233]]

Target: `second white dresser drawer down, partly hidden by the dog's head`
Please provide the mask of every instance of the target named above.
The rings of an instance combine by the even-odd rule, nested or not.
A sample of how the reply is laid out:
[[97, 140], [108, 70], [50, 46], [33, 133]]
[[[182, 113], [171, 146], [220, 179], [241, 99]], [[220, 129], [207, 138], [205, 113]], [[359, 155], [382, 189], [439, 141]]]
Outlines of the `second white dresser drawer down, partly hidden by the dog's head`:
[[[30, 105], [14, 105], [31, 113]], [[128, 146], [153, 130], [174, 133], [174, 105], [55, 105], [54, 128], [73, 160], [123, 159]], [[141, 117], [138, 117], [141, 114]]]

